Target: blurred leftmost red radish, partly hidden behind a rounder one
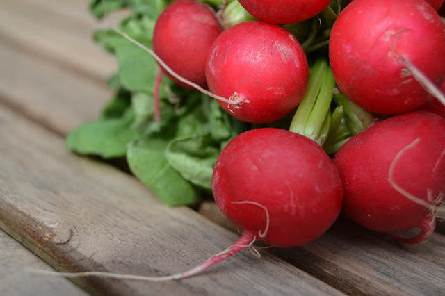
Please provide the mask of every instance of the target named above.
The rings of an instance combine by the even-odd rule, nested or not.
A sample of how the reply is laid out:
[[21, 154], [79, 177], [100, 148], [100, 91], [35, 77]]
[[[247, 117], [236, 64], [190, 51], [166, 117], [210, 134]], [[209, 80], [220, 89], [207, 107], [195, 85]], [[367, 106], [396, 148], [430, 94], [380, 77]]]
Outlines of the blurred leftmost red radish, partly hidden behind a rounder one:
[[[153, 50], [179, 76], [205, 88], [207, 56], [211, 44], [222, 31], [223, 26], [207, 4], [192, 0], [175, 1], [163, 10], [156, 21]], [[180, 85], [190, 88], [165, 73]]]

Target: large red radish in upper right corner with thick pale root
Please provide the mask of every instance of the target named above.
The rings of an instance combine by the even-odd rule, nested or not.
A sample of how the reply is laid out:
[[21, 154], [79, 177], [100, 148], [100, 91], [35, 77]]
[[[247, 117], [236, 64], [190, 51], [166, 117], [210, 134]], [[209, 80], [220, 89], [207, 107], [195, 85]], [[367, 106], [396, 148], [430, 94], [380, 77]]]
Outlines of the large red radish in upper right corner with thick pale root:
[[436, 85], [445, 79], [445, 24], [423, 0], [354, 0], [334, 22], [329, 53], [349, 99], [371, 112], [403, 113], [430, 97], [413, 67]]

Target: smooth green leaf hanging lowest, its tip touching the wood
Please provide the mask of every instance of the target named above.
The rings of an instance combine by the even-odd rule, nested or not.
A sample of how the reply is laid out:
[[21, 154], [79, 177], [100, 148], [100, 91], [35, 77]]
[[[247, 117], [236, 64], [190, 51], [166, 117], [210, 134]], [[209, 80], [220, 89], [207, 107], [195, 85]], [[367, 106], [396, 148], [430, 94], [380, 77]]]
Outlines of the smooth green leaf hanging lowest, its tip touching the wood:
[[131, 172], [164, 204], [195, 204], [199, 200], [197, 190], [165, 158], [168, 142], [163, 138], [145, 138], [131, 142], [127, 151]]

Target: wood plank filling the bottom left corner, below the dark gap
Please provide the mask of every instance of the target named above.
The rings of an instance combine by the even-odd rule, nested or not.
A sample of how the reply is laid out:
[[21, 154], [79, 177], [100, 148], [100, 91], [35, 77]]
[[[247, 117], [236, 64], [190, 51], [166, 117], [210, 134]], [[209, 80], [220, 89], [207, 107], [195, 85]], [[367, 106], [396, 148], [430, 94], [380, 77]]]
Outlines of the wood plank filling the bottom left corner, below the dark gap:
[[62, 277], [36, 276], [26, 268], [53, 270], [47, 263], [0, 230], [0, 289], [2, 296], [86, 296]]

